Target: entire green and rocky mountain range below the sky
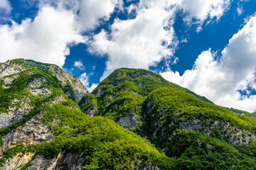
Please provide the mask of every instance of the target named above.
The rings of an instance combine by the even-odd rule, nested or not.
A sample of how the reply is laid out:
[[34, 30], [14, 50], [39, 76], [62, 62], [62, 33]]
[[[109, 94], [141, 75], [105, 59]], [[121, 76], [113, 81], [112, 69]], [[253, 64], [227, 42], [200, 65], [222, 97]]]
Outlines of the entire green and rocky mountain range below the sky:
[[[1, 169], [255, 169], [256, 121], [144, 69], [88, 93], [53, 64], [0, 64]], [[243, 115], [243, 113], [245, 115]]]

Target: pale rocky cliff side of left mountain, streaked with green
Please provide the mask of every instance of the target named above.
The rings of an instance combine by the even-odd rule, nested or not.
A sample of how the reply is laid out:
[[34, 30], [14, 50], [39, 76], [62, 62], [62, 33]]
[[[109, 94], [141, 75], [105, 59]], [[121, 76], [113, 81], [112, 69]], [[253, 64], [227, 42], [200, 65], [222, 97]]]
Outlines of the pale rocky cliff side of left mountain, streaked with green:
[[[0, 64], [0, 81], [1, 152], [17, 142], [40, 145], [52, 140], [52, 130], [43, 121], [47, 112], [41, 108], [70, 101], [69, 98], [79, 102], [88, 94], [78, 77], [53, 64], [31, 60], [10, 60]], [[32, 157], [33, 154], [14, 157], [1, 169], [15, 169]]]

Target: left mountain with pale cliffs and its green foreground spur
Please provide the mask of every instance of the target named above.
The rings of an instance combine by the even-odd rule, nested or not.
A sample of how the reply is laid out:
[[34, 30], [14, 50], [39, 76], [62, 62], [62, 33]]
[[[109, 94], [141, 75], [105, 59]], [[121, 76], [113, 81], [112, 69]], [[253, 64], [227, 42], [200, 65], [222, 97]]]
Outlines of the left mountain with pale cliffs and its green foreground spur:
[[113, 120], [82, 113], [75, 101], [88, 92], [60, 67], [11, 60], [0, 68], [1, 169], [157, 169], [172, 161]]

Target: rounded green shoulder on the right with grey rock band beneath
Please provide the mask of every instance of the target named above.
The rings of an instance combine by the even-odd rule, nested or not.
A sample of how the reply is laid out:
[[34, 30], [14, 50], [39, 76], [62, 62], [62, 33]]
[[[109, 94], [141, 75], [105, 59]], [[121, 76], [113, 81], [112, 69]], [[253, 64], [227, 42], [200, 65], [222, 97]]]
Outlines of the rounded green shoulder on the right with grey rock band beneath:
[[[235, 130], [238, 128], [247, 130], [250, 135], [256, 133], [255, 119], [235, 114], [213, 103], [201, 101], [195, 96], [174, 88], [153, 91], [144, 101], [143, 109], [144, 124], [140, 134], [148, 137], [157, 147], [166, 149], [166, 153], [171, 152], [169, 140], [176, 130], [181, 129], [182, 124], [191, 123], [191, 127], [195, 127], [195, 130], [210, 133], [211, 137], [228, 143], [233, 143]], [[224, 128], [228, 123], [230, 127]], [[193, 128], [190, 129], [193, 130]]]

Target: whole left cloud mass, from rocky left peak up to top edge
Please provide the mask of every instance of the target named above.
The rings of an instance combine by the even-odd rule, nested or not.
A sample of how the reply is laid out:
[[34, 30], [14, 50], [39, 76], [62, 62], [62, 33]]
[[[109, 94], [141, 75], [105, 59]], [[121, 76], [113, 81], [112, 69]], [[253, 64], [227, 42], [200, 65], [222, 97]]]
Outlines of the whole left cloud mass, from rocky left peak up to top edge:
[[[28, 8], [29, 4], [40, 8], [36, 18], [26, 18], [21, 24], [12, 21], [11, 26], [0, 25], [0, 62], [24, 58], [62, 67], [70, 45], [85, 42], [82, 32], [97, 26], [100, 18], [109, 18], [117, 4], [117, 0], [29, 2]], [[9, 1], [1, 1], [0, 8], [10, 11]]]

